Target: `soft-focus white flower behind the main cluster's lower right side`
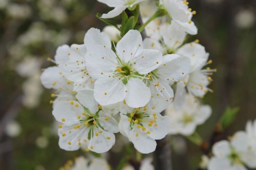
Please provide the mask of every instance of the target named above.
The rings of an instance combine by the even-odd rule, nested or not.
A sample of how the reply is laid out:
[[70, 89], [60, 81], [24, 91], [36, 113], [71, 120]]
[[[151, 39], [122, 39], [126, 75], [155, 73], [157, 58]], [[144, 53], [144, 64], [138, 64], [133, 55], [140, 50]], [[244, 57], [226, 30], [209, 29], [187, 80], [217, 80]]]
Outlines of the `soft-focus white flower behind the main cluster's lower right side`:
[[170, 134], [191, 135], [198, 125], [202, 125], [210, 116], [211, 108], [208, 105], [200, 105], [194, 96], [186, 94], [185, 103], [179, 111], [171, 104], [165, 113], [170, 117]]

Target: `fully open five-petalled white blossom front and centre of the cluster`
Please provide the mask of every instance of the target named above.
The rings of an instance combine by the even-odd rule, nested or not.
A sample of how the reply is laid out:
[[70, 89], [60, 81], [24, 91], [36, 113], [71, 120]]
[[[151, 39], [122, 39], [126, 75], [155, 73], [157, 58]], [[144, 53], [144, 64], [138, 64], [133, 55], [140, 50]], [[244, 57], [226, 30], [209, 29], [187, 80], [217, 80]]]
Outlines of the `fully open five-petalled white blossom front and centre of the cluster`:
[[136, 30], [127, 32], [117, 43], [116, 53], [105, 46], [94, 46], [86, 54], [86, 67], [96, 79], [95, 100], [103, 106], [124, 100], [133, 108], [145, 106], [151, 91], [142, 80], [161, 63], [161, 53], [143, 49], [142, 37]]

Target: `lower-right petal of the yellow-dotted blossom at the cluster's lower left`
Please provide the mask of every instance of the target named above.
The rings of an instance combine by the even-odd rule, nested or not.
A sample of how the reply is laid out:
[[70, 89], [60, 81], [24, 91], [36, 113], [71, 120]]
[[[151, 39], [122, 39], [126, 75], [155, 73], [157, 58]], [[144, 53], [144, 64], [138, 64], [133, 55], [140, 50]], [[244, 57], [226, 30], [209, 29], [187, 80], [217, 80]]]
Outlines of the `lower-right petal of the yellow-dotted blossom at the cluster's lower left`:
[[96, 153], [108, 152], [115, 144], [115, 140], [115, 135], [112, 132], [103, 131], [98, 136], [93, 136], [89, 141], [88, 148]]

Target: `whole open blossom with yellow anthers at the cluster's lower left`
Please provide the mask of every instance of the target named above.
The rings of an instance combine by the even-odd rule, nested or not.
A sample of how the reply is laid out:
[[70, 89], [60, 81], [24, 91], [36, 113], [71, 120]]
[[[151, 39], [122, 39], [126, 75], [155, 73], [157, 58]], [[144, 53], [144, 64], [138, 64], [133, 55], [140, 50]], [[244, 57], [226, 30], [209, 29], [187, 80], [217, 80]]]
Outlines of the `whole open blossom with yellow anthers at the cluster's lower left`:
[[74, 151], [83, 145], [87, 151], [103, 153], [114, 145], [118, 124], [111, 115], [95, 108], [92, 95], [91, 98], [90, 94], [81, 95], [80, 102], [86, 105], [78, 101], [65, 101], [54, 107], [53, 115], [62, 123], [58, 130], [61, 149]]

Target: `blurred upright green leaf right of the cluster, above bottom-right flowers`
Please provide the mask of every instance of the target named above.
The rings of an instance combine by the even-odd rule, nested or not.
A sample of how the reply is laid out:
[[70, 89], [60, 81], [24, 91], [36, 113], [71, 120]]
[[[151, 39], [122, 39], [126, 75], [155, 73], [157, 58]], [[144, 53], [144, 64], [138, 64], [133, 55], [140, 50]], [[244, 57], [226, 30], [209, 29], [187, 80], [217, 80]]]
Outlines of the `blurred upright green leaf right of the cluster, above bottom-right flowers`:
[[220, 119], [221, 130], [226, 129], [236, 118], [237, 113], [239, 112], [239, 107], [230, 108], [227, 107], [223, 116]]

